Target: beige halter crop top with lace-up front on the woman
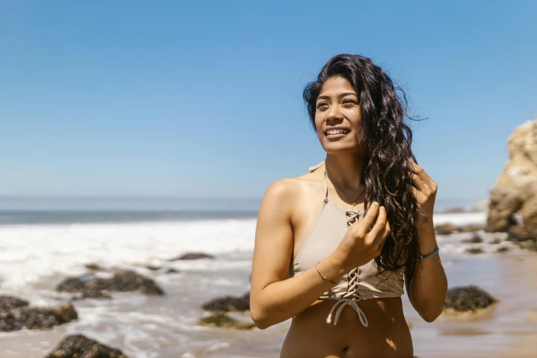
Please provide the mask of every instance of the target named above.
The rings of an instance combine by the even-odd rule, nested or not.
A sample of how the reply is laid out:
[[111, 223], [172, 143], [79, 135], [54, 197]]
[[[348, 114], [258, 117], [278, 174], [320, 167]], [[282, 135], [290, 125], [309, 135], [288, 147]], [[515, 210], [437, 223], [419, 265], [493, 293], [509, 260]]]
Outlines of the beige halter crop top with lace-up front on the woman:
[[[289, 266], [289, 277], [298, 276], [310, 267], [331, 254], [343, 239], [348, 227], [358, 222], [365, 211], [354, 211], [340, 208], [328, 199], [328, 184], [326, 184], [326, 169], [324, 160], [309, 171], [314, 171], [322, 165], [324, 177], [324, 202], [296, 258]], [[404, 294], [402, 272], [392, 272], [376, 276], [378, 270], [374, 260], [356, 267], [345, 274], [339, 283], [324, 292], [320, 299], [337, 300], [333, 305], [326, 322], [331, 323], [332, 313], [335, 312], [334, 324], [346, 305], [353, 307], [358, 313], [363, 326], [368, 326], [366, 314], [357, 305], [357, 301], [370, 298], [399, 297]]]

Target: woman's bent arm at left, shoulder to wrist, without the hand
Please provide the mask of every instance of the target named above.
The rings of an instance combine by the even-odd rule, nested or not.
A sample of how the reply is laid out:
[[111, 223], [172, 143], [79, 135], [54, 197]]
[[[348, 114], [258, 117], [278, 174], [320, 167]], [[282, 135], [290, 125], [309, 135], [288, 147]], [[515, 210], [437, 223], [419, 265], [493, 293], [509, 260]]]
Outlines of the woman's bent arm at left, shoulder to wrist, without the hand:
[[[270, 185], [257, 215], [250, 314], [260, 329], [294, 317], [334, 286], [315, 267], [286, 279], [294, 247], [291, 212], [296, 195], [289, 180]], [[334, 282], [346, 273], [333, 255], [318, 267]]]

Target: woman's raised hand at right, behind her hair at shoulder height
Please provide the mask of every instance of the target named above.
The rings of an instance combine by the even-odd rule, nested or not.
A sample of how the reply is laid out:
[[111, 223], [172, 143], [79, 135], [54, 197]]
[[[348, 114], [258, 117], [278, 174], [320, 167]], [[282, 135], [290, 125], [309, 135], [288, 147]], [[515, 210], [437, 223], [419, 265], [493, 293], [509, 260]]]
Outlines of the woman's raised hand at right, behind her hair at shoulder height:
[[427, 217], [424, 217], [419, 212], [416, 217], [416, 224], [425, 225], [432, 224], [432, 217], [434, 211], [434, 201], [436, 198], [436, 191], [438, 190], [438, 185], [431, 179], [429, 174], [416, 164], [413, 160], [409, 160], [410, 171], [409, 174], [412, 178], [413, 185], [410, 186], [418, 206], [427, 213]]

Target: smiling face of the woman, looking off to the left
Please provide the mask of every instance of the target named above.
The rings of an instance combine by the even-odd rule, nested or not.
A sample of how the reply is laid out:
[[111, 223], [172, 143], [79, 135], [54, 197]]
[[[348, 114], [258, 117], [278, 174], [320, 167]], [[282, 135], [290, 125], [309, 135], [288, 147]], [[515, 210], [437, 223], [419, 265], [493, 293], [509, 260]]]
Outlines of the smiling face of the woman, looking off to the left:
[[360, 106], [353, 85], [343, 77], [324, 82], [315, 103], [315, 128], [324, 150], [359, 152]]

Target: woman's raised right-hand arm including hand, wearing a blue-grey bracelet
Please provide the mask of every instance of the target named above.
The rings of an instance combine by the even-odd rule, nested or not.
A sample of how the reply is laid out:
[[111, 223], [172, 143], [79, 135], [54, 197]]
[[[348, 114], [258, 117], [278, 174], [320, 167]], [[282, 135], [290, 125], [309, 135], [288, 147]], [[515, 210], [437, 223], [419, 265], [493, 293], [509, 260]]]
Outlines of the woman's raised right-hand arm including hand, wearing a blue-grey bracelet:
[[[418, 213], [416, 229], [422, 254], [429, 254], [436, 248], [436, 236], [433, 224], [433, 208], [438, 185], [427, 172], [410, 161], [411, 174], [414, 186], [411, 191], [416, 202], [426, 213], [424, 217]], [[420, 316], [427, 322], [433, 322], [442, 313], [447, 293], [447, 278], [444, 267], [440, 262], [440, 255], [429, 259], [419, 260], [409, 257], [405, 271], [405, 281], [409, 300]]]

